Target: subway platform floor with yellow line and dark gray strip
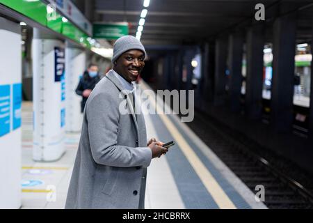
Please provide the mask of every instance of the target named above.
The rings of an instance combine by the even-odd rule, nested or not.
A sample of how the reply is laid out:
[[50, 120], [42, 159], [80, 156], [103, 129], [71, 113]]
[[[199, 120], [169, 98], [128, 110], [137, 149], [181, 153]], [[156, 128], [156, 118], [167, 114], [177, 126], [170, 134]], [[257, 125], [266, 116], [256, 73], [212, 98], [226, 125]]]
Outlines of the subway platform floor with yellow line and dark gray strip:
[[[23, 102], [22, 208], [64, 208], [80, 134], [66, 133], [60, 160], [33, 161], [32, 110]], [[266, 208], [177, 116], [145, 115], [145, 122], [148, 139], [176, 142], [148, 167], [145, 208]]]

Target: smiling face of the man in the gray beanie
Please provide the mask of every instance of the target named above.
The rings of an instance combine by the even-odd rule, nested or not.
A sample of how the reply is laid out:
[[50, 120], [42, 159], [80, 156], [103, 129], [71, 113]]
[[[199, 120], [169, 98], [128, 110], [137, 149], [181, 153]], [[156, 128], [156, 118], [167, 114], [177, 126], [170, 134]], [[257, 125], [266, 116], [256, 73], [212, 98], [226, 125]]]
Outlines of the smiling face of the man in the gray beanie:
[[145, 66], [145, 54], [138, 49], [130, 49], [114, 63], [114, 70], [127, 82], [134, 82]]

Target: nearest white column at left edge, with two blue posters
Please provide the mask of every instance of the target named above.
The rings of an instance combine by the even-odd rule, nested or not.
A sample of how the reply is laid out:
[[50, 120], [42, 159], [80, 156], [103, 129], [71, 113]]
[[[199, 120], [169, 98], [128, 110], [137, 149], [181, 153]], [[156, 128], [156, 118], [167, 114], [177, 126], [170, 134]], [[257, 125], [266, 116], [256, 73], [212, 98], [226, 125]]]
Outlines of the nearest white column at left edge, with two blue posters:
[[0, 17], [0, 209], [21, 206], [20, 26]]

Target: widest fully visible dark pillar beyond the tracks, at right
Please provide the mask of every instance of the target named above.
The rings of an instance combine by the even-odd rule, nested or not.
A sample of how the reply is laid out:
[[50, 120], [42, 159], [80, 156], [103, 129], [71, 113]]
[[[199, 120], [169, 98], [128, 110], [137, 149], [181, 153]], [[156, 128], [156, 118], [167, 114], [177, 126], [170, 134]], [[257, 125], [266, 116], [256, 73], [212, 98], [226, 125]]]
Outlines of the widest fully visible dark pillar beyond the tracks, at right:
[[285, 15], [273, 24], [273, 78], [271, 124], [279, 132], [289, 132], [293, 122], [294, 56], [296, 17]]

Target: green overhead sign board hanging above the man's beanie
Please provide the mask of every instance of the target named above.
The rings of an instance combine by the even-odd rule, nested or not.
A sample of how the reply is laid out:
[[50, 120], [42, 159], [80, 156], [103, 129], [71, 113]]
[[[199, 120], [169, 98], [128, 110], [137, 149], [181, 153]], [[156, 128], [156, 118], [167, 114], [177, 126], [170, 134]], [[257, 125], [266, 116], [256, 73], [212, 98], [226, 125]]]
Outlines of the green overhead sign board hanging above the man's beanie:
[[106, 23], [93, 24], [93, 38], [104, 38], [106, 40], [117, 40], [121, 36], [128, 35], [128, 23]]

